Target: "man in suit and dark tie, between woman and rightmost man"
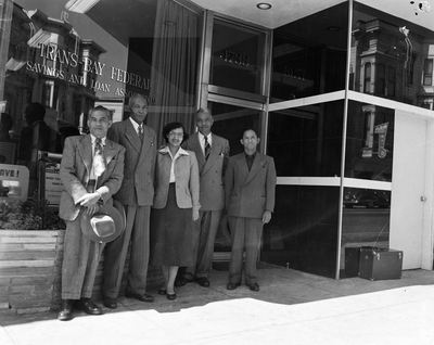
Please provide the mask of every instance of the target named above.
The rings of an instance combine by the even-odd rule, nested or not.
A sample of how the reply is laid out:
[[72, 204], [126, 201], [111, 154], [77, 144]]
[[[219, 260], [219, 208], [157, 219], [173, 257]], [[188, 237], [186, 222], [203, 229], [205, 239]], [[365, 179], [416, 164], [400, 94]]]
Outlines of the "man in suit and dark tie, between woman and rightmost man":
[[210, 132], [214, 119], [208, 108], [197, 110], [195, 117], [199, 132], [184, 143], [186, 150], [196, 154], [201, 179], [201, 209], [199, 221], [194, 222], [195, 263], [180, 270], [175, 285], [183, 286], [195, 280], [201, 286], [209, 288], [207, 276], [212, 269], [214, 241], [225, 206], [224, 173], [229, 157], [229, 141]]

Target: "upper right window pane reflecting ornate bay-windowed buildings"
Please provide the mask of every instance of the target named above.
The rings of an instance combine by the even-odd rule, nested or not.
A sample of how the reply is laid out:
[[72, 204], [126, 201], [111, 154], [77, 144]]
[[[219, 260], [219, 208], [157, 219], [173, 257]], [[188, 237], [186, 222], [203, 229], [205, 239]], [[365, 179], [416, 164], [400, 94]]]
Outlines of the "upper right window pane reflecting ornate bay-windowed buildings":
[[433, 108], [434, 31], [355, 2], [349, 89]]

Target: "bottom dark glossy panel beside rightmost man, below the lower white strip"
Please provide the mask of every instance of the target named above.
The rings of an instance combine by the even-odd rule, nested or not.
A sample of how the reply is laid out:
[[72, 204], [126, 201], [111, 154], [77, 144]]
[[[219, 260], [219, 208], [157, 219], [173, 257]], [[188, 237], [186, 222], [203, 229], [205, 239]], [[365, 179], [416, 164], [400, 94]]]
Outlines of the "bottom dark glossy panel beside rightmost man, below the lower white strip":
[[337, 212], [337, 187], [277, 186], [260, 259], [334, 278]]

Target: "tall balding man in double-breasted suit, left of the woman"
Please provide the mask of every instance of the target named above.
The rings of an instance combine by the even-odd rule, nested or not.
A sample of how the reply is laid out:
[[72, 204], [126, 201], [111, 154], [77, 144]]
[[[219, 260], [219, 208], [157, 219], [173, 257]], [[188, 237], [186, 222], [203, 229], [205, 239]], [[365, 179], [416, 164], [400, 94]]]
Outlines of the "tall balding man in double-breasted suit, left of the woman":
[[154, 168], [156, 157], [155, 131], [143, 124], [148, 115], [148, 101], [136, 93], [129, 100], [130, 117], [115, 123], [107, 138], [126, 149], [122, 188], [114, 196], [125, 207], [127, 226], [123, 234], [105, 246], [103, 304], [117, 308], [117, 296], [131, 241], [127, 298], [154, 302], [146, 294], [150, 248], [150, 212], [154, 197]]

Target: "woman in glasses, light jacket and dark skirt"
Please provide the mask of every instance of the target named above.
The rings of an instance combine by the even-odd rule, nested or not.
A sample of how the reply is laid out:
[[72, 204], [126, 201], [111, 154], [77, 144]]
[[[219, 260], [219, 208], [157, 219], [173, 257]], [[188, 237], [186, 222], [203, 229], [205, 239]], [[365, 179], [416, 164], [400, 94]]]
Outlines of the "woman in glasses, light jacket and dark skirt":
[[179, 266], [193, 264], [193, 221], [199, 219], [199, 168], [193, 151], [181, 148], [188, 133], [180, 123], [163, 128], [163, 146], [156, 158], [155, 196], [151, 214], [151, 264], [162, 266], [164, 284], [158, 294], [176, 299]]

